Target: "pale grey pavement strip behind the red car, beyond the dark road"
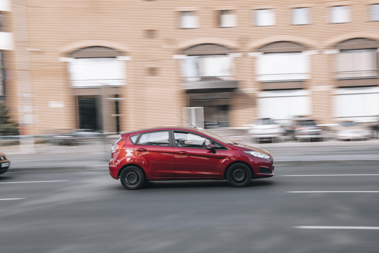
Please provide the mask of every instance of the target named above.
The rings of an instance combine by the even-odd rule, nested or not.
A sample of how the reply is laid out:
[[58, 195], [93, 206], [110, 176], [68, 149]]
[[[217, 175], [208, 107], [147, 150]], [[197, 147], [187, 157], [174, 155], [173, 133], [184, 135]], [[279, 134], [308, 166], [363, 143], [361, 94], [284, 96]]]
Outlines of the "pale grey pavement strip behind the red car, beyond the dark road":
[[[379, 141], [326, 141], [308, 143], [261, 143], [250, 144], [266, 149], [279, 162], [293, 161], [326, 161], [341, 162], [346, 160], [373, 160], [370, 163], [379, 163]], [[36, 148], [35, 152], [19, 150], [2, 150], [11, 160], [11, 168], [16, 171], [41, 170], [42, 168], [57, 169], [97, 169], [106, 168], [110, 159], [111, 145], [90, 143], [80, 146], [45, 146]], [[336, 163], [336, 162], [335, 162]]]

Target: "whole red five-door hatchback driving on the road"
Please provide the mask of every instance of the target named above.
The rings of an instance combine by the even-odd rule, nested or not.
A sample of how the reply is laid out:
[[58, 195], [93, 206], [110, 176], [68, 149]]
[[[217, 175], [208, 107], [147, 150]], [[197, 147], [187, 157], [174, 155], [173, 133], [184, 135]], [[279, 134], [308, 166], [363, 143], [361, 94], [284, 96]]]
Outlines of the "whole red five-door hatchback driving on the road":
[[269, 152], [197, 128], [122, 133], [111, 150], [109, 173], [129, 190], [156, 180], [227, 179], [233, 187], [245, 187], [251, 179], [274, 176]]

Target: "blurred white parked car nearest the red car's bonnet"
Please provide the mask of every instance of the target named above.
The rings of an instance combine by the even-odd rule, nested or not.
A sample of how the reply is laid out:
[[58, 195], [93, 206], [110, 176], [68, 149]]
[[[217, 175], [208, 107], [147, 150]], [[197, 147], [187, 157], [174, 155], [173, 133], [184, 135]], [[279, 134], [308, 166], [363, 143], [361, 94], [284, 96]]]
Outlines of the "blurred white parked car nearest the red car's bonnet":
[[260, 118], [252, 125], [249, 134], [258, 143], [263, 140], [274, 142], [285, 134], [285, 129], [271, 118]]

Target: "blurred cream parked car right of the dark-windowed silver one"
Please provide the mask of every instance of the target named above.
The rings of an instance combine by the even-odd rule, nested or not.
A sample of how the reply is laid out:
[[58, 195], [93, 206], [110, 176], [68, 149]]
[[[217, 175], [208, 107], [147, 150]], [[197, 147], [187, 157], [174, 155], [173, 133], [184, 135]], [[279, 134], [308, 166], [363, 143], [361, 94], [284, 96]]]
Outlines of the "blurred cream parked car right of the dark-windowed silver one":
[[354, 121], [341, 121], [335, 127], [335, 138], [337, 140], [368, 139], [373, 137], [369, 126]]

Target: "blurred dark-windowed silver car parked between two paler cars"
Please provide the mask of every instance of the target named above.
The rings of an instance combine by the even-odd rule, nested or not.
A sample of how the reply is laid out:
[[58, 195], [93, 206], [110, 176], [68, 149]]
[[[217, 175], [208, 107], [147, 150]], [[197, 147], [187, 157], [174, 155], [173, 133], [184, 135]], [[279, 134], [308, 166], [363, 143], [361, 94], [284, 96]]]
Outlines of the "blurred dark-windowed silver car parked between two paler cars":
[[323, 141], [326, 133], [311, 118], [293, 118], [289, 132], [295, 140]]

